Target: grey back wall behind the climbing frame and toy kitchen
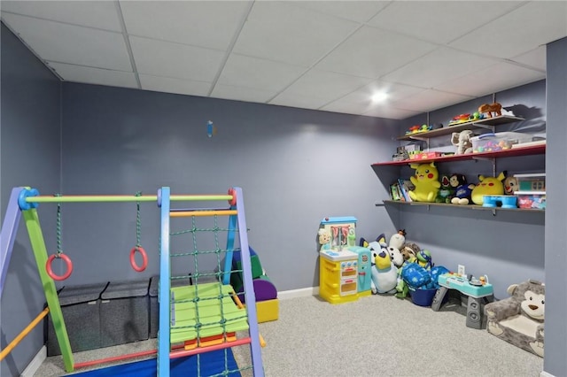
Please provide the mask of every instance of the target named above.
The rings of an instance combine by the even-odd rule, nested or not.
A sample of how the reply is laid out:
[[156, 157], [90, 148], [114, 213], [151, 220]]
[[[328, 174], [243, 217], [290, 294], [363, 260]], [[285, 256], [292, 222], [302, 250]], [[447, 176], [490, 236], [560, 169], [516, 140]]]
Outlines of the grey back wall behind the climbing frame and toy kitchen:
[[[151, 195], [162, 186], [225, 194], [240, 186], [249, 242], [279, 290], [318, 285], [315, 235], [324, 217], [355, 216], [366, 237], [393, 231], [391, 219], [372, 211], [385, 190], [369, 163], [391, 158], [395, 121], [71, 83], [63, 85], [63, 104], [64, 194]], [[208, 120], [217, 127], [210, 138]], [[151, 254], [145, 273], [128, 261], [135, 204], [64, 207], [63, 239], [76, 271], [69, 284], [158, 273], [155, 204], [142, 204], [142, 245]], [[198, 250], [211, 247], [198, 242]], [[193, 247], [189, 239], [176, 246]], [[201, 271], [214, 266], [199, 260]], [[188, 273], [192, 262], [176, 267]]]

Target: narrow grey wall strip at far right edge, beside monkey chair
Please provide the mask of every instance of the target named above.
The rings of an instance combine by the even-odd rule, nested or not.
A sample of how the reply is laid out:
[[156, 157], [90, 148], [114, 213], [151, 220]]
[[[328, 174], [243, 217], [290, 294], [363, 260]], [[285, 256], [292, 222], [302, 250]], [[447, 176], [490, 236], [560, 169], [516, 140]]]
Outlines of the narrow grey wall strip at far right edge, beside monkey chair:
[[544, 370], [567, 375], [567, 38], [548, 45], [548, 209], [546, 210], [546, 357]]

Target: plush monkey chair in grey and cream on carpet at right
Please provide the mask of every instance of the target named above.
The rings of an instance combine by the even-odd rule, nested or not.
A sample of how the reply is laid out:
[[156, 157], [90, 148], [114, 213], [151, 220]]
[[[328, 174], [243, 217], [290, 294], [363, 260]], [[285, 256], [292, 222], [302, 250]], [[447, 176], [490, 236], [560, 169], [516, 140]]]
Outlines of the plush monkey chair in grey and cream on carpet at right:
[[509, 286], [509, 298], [486, 304], [486, 330], [543, 358], [545, 285], [529, 280]]

